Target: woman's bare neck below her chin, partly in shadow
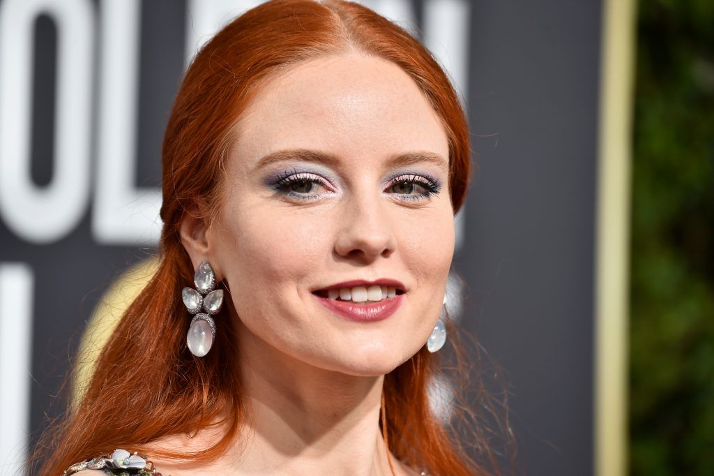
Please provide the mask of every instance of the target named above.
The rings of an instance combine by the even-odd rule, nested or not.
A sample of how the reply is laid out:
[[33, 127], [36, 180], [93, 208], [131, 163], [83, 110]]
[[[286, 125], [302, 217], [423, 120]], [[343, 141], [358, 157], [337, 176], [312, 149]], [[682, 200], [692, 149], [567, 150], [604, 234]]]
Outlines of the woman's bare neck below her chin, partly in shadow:
[[245, 328], [239, 338], [248, 422], [237, 472], [392, 475], [379, 430], [383, 375], [308, 365]]

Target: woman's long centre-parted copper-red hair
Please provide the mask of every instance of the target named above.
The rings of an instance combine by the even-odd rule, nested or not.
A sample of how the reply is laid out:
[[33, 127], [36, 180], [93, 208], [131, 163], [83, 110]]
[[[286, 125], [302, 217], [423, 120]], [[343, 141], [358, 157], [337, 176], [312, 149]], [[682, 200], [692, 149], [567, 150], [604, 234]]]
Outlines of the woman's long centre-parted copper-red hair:
[[[302, 61], [353, 51], [397, 64], [431, 103], [448, 136], [454, 213], [461, 208], [471, 175], [466, 115], [448, 76], [418, 40], [374, 11], [342, 0], [273, 0], [238, 16], [193, 59], [171, 111], [162, 150], [158, 269], [106, 342], [81, 400], [38, 445], [44, 452], [38, 458], [44, 462], [41, 474], [59, 475], [74, 462], [117, 447], [208, 462], [237, 437], [246, 412], [235, 332], [226, 320], [212, 352], [201, 358], [188, 352], [188, 319], [179, 296], [192, 282], [193, 269], [179, 225], [198, 199], [214, 212], [221, 206], [223, 161], [236, 140], [231, 130], [266, 80]], [[452, 327], [450, 335], [456, 334]], [[431, 410], [429, 385], [446, 367], [438, 359], [421, 349], [386, 375], [380, 425], [389, 450], [435, 475], [498, 473], [498, 452], [478, 419], [471, 420], [475, 428], [465, 440]], [[205, 450], [186, 455], [151, 447], [159, 437], [193, 434], [217, 419], [223, 437]]]

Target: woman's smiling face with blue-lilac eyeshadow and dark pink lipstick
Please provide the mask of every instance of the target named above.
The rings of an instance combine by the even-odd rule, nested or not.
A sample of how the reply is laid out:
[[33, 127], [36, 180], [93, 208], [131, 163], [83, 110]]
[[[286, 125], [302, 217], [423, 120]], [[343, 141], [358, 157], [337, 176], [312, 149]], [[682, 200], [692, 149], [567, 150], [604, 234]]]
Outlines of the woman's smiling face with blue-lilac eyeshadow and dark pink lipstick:
[[[235, 132], [207, 237], [242, 338], [349, 375], [416, 354], [454, 246], [446, 132], [418, 86], [382, 59], [308, 61], [268, 81]], [[397, 295], [359, 302], [382, 298], [380, 279]]]

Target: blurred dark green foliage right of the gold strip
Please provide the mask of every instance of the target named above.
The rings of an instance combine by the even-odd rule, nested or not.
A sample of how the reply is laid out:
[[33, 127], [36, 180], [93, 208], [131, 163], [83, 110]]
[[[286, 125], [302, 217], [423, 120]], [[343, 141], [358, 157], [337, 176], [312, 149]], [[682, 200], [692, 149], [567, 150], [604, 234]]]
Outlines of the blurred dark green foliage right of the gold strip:
[[638, 9], [630, 474], [714, 475], [714, 1]]

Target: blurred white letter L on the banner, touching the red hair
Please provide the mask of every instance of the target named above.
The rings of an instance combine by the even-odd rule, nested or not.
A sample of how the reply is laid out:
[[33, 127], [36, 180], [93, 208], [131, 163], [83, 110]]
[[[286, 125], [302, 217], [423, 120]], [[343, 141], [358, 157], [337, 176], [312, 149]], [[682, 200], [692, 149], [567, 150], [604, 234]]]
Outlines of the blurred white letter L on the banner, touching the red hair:
[[141, 2], [102, 0], [100, 14], [99, 161], [92, 231], [103, 244], [156, 244], [161, 191], [134, 187]]

